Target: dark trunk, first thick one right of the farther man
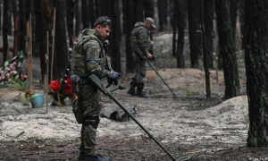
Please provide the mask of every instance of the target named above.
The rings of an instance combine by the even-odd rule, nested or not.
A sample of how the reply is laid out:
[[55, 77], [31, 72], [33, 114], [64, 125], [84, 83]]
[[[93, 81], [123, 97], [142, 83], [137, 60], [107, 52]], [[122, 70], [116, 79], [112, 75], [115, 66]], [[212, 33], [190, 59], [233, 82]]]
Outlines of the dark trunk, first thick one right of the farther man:
[[[178, 38], [177, 38], [177, 67], [185, 67], [183, 46], [184, 46], [184, 25], [185, 25], [185, 3], [184, 0], [178, 0]], [[174, 20], [175, 21], [175, 20]]]

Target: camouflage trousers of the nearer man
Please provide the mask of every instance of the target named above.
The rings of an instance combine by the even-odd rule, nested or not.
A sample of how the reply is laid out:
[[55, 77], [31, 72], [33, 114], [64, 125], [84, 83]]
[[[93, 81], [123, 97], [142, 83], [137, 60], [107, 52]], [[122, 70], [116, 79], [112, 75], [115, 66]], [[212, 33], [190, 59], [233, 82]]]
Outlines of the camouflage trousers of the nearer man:
[[[96, 128], [99, 122], [92, 117], [99, 116], [102, 105], [100, 104], [101, 92], [96, 87], [83, 85], [78, 95], [79, 106], [82, 108], [87, 123], [82, 123], [80, 131], [80, 151], [86, 156], [96, 156]], [[96, 125], [96, 127], [95, 127]]]

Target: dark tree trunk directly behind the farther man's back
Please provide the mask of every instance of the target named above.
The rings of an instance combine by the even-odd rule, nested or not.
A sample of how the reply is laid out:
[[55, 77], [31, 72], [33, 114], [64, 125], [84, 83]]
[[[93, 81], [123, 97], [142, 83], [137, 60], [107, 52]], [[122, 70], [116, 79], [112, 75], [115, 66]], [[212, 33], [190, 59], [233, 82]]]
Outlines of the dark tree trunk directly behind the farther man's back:
[[133, 21], [133, 1], [124, 1], [124, 3], [126, 11], [128, 11], [124, 14], [124, 20], [126, 21], [126, 72], [134, 72], [135, 63], [130, 46], [130, 34], [135, 24], [135, 21]]

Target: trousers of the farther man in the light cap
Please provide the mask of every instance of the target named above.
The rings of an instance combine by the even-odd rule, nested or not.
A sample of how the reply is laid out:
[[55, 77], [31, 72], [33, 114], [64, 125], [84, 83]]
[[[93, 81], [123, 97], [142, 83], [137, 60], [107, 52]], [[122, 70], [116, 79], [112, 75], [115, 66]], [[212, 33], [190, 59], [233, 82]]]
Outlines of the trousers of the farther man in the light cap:
[[132, 80], [136, 80], [136, 83], [142, 83], [147, 75], [147, 61], [137, 56], [135, 57], [135, 64], [136, 71], [132, 76]]

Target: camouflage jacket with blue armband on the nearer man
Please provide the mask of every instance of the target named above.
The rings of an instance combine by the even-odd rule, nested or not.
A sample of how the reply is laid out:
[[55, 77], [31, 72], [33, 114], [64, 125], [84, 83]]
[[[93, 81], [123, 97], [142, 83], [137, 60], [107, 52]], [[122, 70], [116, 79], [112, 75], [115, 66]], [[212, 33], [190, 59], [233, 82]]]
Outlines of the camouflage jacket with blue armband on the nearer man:
[[71, 71], [80, 77], [95, 73], [99, 78], [103, 78], [109, 75], [111, 70], [103, 41], [96, 30], [83, 30], [73, 44]]

